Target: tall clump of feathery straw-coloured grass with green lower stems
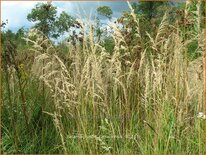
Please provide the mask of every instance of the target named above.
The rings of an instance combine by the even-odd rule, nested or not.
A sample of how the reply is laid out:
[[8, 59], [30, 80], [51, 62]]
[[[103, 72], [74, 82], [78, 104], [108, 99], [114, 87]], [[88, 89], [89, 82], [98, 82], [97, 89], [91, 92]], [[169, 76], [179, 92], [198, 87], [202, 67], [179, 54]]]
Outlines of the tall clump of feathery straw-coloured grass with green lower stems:
[[[42, 146], [47, 148], [52, 143], [52, 153], [204, 154], [204, 120], [196, 117], [205, 108], [201, 76], [204, 30], [198, 26], [199, 14], [190, 15], [194, 32], [178, 21], [171, 25], [166, 12], [156, 32], [147, 32], [147, 39], [143, 39], [139, 17], [128, 5], [132, 28], [111, 23], [115, 43], [112, 53], [95, 38], [92, 22], [81, 22], [83, 40], [67, 42], [64, 58], [42, 32], [30, 30], [25, 40], [32, 46], [34, 57], [27, 89], [33, 89], [36, 96], [34, 101], [29, 100], [32, 116], [28, 116], [28, 124], [37, 115], [44, 116], [39, 118], [38, 131]], [[189, 5], [185, 16], [189, 16]], [[125, 34], [133, 35], [133, 39]], [[201, 55], [195, 61], [188, 59], [193, 41], [198, 41], [196, 50]], [[42, 82], [46, 102], [39, 101]], [[11, 88], [7, 86], [9, 96]], [[5, 115], [11, 115], [13, 129], [5, 128], [3, 146], [8, 150], [5, 143], [12, 136], [6, 133], [13, 131], [16, 138], [10, 144], [15, 146], [11, 152], [17, 152], [25, 144], [18, 142], [21, 130], [18, 118], [13, 123], [9, 110], [14, 102], [8, 99], [5, 102], [10, 103], [9, 107], [3, 107]], [[39, 114], [35, 114], [36, 104], [42, 109]], [[35, 127], [30, 129], [32, 133], [37, 132]], [[37, 144], [38, 135], [30, 143]]]

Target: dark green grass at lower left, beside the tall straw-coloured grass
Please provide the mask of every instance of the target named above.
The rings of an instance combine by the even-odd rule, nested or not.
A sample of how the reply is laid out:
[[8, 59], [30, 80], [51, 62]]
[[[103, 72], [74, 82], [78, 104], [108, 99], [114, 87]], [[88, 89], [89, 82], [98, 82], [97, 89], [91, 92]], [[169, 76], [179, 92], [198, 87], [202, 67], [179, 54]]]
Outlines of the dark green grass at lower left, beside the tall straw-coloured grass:
[[[5, 74], [2, 76], [5, 81]], [[5, 84], [3, 87], [5, 88]], [[11, 127], [11, 105], [8, 101], [8, 90], [3, 91], [3, 103], [2, 103], [2, 149], [1, 151], [6, 154], [38, 154], [41, 153], [61, 153], [59, 148], [59, 136], [53, 126], [51, 117], [41, 112], [41, 105], [43, 104], [42, 94], [39, 92], [39, 86], [37, 80], [29, 79], [28, 86], [26, 88], [27, 106], [29, 110], [29, 126], [24, 122], [23, 114], [21, 113], [21, 101], [20, 93], [18, 91], [18, 84], [15, 83], [14, 89], [14, 109], [15, 115], [15, 129], [18, 135], [17, 150], [14, 145], [14, 128]], [[47, 105], [51, 103], [50, 99], [47, 99]], [[51, 109], [46, 106], [45, 109]], [[2, 153], [1, 152], [1, 153]]]

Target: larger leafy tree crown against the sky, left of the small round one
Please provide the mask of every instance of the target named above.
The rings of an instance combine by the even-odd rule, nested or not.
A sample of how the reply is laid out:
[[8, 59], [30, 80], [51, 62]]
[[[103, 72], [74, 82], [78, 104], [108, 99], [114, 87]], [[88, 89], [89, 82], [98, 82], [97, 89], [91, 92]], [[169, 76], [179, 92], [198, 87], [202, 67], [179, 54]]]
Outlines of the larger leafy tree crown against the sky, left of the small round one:
[[27, 15], [27, 19], [37, 22], [34, 27], [52, 38], [58, 38], [64, 32], [68, 32], [75, 22], [75, 19], [64, 11], [57, 17], [57, 8], [51, 2], [38, 3]]

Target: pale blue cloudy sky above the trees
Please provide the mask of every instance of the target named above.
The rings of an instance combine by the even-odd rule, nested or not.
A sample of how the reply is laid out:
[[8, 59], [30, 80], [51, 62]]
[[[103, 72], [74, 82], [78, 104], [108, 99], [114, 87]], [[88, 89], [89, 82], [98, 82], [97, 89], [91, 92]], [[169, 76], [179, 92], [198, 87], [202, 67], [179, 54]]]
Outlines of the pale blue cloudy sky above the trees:
[[[43, 1], [42, 1], [43, 2]], [[46, 1], [44, 1], [46, 2]], [[16, 32], [19, 28], [30, 28], [34, 25], [27, 20], [27, 14], [29, 14], [32, 8], [39, 2], [37, 1], [1, 1], [1, 19], [6, 21], [8, 24], [5, 30], [12, 30]], [[53, 1], [52, 4], [57, 7], [57, 13], [60, 14], [62, 11], [67, 12], [77, 18], [86, 19], [87, 17], [94, 16], [95, 10], [99, 6], [109, 6], [113, 11], [113, 18], [117, 18], [121, 13], [128, 9], [127, 2], [124, 1], [64, 1], [58, 2]], [[104, 20], [104, 19], [102, 19]]]

